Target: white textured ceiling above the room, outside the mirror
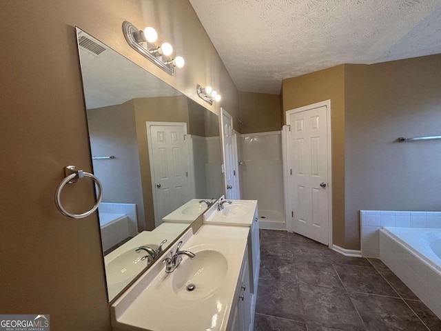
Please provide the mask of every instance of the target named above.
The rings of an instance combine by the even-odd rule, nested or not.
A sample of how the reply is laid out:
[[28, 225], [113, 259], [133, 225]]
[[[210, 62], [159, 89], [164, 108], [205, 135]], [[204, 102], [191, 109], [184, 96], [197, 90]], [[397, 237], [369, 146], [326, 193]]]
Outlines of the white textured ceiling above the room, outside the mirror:
[[189, 0], [238, 90], [441, 53], [441, 0]]

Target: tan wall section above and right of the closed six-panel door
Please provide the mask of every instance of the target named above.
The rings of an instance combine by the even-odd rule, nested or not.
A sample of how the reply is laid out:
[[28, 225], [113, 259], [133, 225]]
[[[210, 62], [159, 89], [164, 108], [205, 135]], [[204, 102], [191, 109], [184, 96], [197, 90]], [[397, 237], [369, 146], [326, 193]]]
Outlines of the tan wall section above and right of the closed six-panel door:
[[282, 93], [284, 112], [331, 99], [333, 241], [345, 247], [345, 66], [285, 79]]

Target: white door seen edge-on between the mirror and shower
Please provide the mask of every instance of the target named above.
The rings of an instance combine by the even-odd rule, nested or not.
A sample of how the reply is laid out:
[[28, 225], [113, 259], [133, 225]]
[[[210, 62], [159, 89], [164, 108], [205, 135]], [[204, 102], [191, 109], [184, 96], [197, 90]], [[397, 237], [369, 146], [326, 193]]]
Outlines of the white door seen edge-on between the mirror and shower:
[[220, 108], [222, 117], [220, 119], [222, 126], [223, 141], [223, 163], [225, 168], [225, 199], [239, 199], [240, 190], [236, 174], [238, 172], [237, 148], [233, 137], [233, 117], [228, 112]]

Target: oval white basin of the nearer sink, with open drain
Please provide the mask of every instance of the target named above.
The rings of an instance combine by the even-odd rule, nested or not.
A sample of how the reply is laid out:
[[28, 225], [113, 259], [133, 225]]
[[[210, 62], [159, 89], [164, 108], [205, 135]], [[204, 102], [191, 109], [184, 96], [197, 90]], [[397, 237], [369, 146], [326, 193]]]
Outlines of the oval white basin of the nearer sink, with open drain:
[[194, 259], [184, 257], [172, 273], [172, 288], [179, 299], [199, 300], [216, 290], [228, 270], [228, 261], [217, 250], [201, 250]]

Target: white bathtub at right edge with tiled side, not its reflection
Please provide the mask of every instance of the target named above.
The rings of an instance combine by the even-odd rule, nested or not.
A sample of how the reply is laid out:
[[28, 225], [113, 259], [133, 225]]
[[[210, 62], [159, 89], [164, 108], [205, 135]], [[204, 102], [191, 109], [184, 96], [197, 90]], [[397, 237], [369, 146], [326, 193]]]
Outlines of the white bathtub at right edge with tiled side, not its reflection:
[[380, 258], [441, 319], [441, 229], [382, 228]]

